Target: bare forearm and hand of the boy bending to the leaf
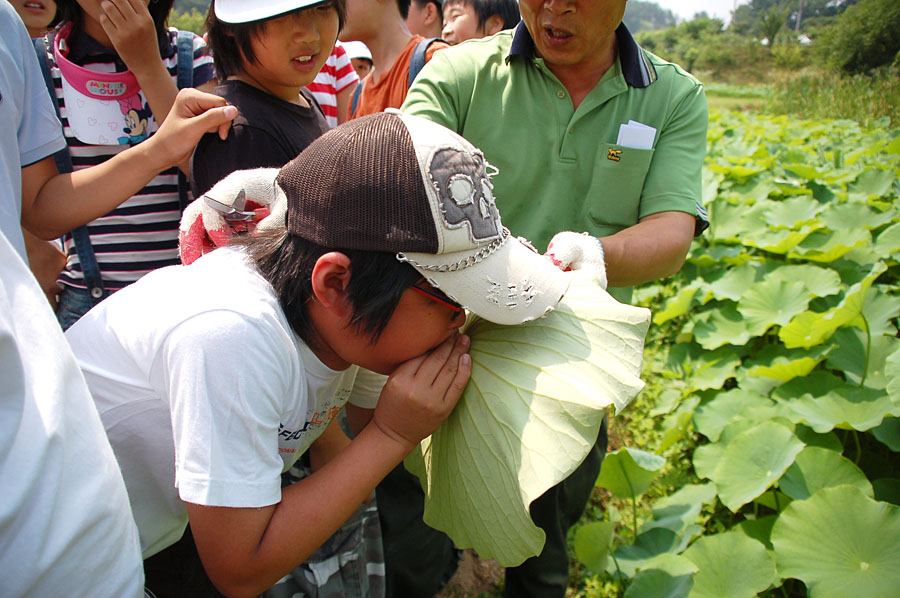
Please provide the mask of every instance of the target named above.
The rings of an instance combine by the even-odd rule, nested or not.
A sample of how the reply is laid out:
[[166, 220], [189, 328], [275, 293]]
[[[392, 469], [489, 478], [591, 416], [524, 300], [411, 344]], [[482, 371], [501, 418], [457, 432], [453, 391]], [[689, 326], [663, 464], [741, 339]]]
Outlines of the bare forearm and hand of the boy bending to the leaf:
[[203, 566], [229, 596], [256, 596], [303, 562], [376, 484], [450, 414], [471, 372], [468, 338], [451, 338], [395, 371], [375, 416], [320, 471], [259, 509], [187, 504]]

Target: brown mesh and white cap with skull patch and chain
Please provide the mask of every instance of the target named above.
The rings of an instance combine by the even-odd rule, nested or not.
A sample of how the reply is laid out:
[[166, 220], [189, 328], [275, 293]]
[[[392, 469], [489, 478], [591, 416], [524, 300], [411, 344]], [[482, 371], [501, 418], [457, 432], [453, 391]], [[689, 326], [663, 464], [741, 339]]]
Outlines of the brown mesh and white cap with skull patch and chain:
[[382, 112], [316, 139], [276, 178], [291, 234], [395, 253], [469, 311], [520, 324], [552, 310], [568, 276], [500, 222], [480, 150], [429, 120]]

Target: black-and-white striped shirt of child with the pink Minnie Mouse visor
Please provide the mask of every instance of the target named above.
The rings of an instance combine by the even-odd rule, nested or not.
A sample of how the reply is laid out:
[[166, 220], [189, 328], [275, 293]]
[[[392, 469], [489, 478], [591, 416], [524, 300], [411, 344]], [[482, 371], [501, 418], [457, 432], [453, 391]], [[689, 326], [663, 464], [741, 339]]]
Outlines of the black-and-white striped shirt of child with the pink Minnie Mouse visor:
[[[163, 63], [176, 80], [178, 54], [175, 46], [177, 30], [169, 29], [169, 52]], [[124, 62], [109, 50], [99, 46], [87, 35], [69, 37], [69, 59], [80, 66], [99, 72], [127, 70]], [[97, 49], [105, 53], [95, 54]], [[69, 145], [69, 154], [75, 170], [100, 164], [122, 152], [129, 144], [88, 145], [79, 141], [68, 124], [67, 107], [63, 99], [62, 79], [53, 60], [52, 49], [48, 54], [50, 72], [60, 106], [63, 133]], [[194, 36], [194, 86], [199, 86], [215, 76], [212, 56], [206, 43]], [[146, 102], [141, 92], [142, 102]], [[152, 117], [147, 126], [151, 133], [158, 125]], [[88, 223], [91, 245], [100, 267], [103, 285], [107, 290], [118, 290], [136, 281], [144, 274], [179, 263], [178, 224], [181, 209], [178, 202], [178, 168], [159, 173], [146, 187], [130, 197], [109, 214]], [[85, 288], [81, 263], [71, 234], [63, 238], [68, 262], [57, 282]]]

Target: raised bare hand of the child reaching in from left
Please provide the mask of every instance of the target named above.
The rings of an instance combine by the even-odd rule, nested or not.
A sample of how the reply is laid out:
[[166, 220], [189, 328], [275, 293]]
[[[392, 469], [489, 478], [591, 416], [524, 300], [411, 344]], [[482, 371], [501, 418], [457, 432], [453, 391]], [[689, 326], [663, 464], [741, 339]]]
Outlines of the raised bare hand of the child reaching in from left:
[[204, 133], [218, 131], [224, 140], [235, 116], [237, 108], [223, 98], [196, 89], [182, 89], [159, 130], [135, 147], [146, 150], [148, 158], [154, 161], [165, 160], [160, 167], [153, 166], [159, 172], [190, 157]]

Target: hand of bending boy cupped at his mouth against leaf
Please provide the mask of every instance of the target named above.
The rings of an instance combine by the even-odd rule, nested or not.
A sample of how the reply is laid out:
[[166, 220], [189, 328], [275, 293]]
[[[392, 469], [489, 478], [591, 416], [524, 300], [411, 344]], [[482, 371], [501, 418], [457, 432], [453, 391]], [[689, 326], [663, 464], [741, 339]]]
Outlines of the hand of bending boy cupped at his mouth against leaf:
[[431, 353], [410, 359], [388, 378], [374, 424], [407, 452], [450, 415], [472, 373], [469, 337], [455, 335]]

